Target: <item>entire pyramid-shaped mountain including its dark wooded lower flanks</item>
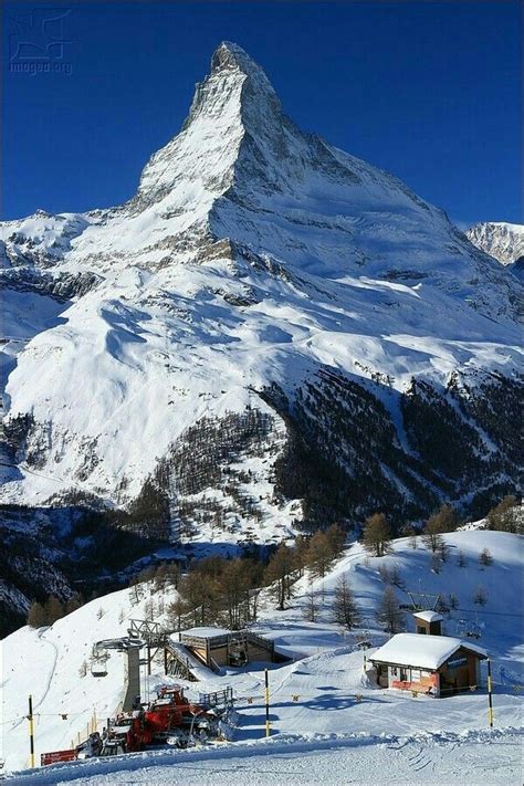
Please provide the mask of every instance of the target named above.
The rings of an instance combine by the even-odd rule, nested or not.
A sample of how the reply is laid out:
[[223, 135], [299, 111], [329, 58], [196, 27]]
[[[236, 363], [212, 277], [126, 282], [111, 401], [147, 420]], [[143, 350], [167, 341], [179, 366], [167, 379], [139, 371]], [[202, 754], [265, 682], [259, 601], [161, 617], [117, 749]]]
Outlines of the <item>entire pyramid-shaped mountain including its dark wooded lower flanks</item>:
[[0, 238], [3, 503], [276, 542], [514, 486], [518, 282], [235, 44], [128, 202]]

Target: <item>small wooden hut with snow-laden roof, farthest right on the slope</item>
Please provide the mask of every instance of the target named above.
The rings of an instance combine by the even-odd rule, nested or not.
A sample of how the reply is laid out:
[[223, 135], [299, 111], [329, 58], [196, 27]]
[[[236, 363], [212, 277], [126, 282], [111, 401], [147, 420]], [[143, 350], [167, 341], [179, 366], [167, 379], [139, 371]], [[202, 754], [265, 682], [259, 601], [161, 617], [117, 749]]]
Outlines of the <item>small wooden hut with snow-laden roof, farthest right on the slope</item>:
[[381, 688], [451, 695], [481, 682], [481, 647], [450, 636], [397, 633], [369, 657]]

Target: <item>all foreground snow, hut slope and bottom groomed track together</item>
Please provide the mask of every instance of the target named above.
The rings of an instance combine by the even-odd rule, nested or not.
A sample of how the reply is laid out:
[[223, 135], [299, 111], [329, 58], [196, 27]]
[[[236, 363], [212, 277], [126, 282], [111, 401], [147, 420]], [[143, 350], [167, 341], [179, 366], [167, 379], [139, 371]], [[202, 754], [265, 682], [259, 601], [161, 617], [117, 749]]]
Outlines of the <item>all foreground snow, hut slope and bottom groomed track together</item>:
[[[293, 660], [270, 668], [271, 735], [265, 738], [264, 664], [226, 669], [207, 681], [184, 682], [163, 673], [160, 661], [143, 677], [144, 694], [166, 683], [181, 683], [186, 693], [232, 685], [234, 727], [229, 742], [195, 748], [146, 751], [103, 759], [52, 765], [34, 771], [29, 764], [27, 713], [32, 691], [35, 713], [36, 759], [44, 751], [69, 747], [96, 712], [101, 722], [114, 714], [123, 698], [124, 659], [113, 653], [107, 677], [78, 670], [94, 641], [123, 636], [129, 618], [144, 617], [149, 587], [136, 602], [134, 589], [98, 598], [59, 620], [51, 628], [22, 628], [2, 642], [2, 753], [8, 783], [34, 784], [521, 784], [523, 779], [522, 695], [522, 537], [470, 528], [446, 535], [449, 559], [440, 573], [430, 569], [430, 552], [420, 538], [392, 543], [381, 559], [369, 557], [360, 544], [349, 546], [324, 579], [306, 574], [296, 585], [290, 608], [276, 611], [264, 597], [253, 630], [272, 638], [279, 651]], [[493, 564], [481, 566], [488, 548]], [[465, 566], [458, 565], [462, 552]], [[380, 565], [396, 565], [407, 588], [428, 594], [451, 593], [459, 609], [446, 615], [444, 632], [457, 636], [461, 621], [478, 631], [474, 642], [491, 658], [494, 679], [494, 727], [489, 727], [485, 666], [476, 691], [446, 699], [409, 691], [379, 689], [363, 671], [356, 647], [364, 633], [373, 648], [387, 640], [376, 622], [376, 608], [385, 584]], [[345, 575], [363, 611], [363, 627], [344, 631], [331, 621], [333, 590]], [[479, 585], [486, 593], [483, 607], [473, 604]], [[306, 593], [319, 598], [316, 622], [304, 620]], [[176, 596], [170, 590], [170, 597]], [[399, 600], [405, 599], [398, 590]], [[103, 615], [101, 615], [101, 609]], [[161, 617], [158, 617], [161, 621]], [[463, 628], [463, 626], [462, 626]], [[413, 622], [407, 615], [407, 630]], [[368, 656], [374, 649], [368, 650]], [[67, 714], [66, 720], [62, 714]], [[19, 772], [15, 772], [19, 771]], [[23, 771], [23, 772], [20, 772]]]

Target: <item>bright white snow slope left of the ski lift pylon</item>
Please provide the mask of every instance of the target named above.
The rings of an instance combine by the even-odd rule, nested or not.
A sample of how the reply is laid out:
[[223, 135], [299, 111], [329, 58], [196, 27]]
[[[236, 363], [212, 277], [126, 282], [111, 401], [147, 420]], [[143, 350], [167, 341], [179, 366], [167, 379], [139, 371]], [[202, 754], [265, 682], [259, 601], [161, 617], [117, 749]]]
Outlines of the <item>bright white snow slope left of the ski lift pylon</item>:
[[[39, 716], [40, 752], [69, 747], [80, 733], [85, 736], [93, 712], [103, 721], [122, 710], [125, 656], [114, 651], [106, 662], [107, 677], [91, 673], [93, 644], [127, 635], [129, 619], [145, 619], [150, 611], [150, 584], [112, 593], [56, 621], [51, 628], [21, 628], [3, 639], [2, 649], [2, 753], [8, 768], [27, 765], [27, 720], [23, 708], [32, 693]], [[163, 594], [164, 608], [177, 597]], [[158, 597], [153, 606], [163, 621]], [[67, 717], [63, 719], [62, 714]], [[14, 720], [13, 720], [14, 719]]]

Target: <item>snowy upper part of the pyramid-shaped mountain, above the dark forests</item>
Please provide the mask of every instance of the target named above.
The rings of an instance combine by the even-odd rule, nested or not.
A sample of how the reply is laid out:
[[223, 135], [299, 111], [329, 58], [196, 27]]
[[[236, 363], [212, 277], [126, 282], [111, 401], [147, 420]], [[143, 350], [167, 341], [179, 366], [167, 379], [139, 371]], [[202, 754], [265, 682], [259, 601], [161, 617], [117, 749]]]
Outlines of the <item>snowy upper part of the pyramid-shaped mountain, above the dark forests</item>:
[[22, 469], [4, 501], [129, 502], [188, 426], [266, 411], [253, 390], [293, 397], [321, 365], [402, 391], [520, 364], [514, 277], [395, 177], [301, 132], [235, 44], [132, 200], [2, 232], [14, 270], [98, 274], [4, 375], [9, 417], [52, 425], [40, 475]]

